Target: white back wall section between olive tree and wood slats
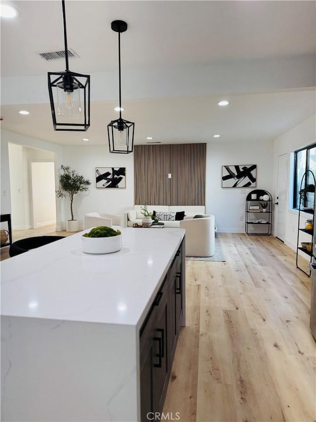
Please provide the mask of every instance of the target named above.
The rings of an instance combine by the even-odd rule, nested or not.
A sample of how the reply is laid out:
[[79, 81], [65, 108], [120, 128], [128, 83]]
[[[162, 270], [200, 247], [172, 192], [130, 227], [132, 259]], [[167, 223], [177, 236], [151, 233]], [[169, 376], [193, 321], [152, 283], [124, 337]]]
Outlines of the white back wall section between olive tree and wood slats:
[[[134, 205], [134, 156], [133, 154], [112, 154], [108, 145], [64, 146], [63, 164], [71, 166], [80, 175], [91, 181], [88, 192], [79, 193], [74, 199], [75, 218], [83, 227], [84, 214], [91, 211], [122, 215]], [[96, 188], [96, 167], [126, 167], [126, 188]], [[58, 185], [57, 185], [58, 186]], [[70, 218], [70, 201], [65, 201], [65, 219]]]

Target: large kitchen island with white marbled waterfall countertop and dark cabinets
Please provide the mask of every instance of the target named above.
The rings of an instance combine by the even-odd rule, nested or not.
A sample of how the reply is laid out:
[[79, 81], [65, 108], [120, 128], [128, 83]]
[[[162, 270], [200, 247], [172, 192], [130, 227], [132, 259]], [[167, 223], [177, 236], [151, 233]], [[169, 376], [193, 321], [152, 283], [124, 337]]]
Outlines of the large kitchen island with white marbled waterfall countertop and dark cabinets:
[[1, 421], [161, 411], [185, 325], [185, 231], [121, 232], [112, 254], [83, 253], [78, 233], [1, 262]]

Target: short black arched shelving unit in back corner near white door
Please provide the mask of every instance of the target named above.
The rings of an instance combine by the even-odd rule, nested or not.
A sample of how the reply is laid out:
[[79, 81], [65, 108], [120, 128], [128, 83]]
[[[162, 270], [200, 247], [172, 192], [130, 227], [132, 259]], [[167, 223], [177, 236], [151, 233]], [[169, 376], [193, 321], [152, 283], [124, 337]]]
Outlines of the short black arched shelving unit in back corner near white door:
[[[260, 197], [268, 195], [269, 199]], [[266, 211], [261, 204], [267, 203]], [[263, 223], [262, 220], [265, 222]], [[245, 230], [247, 234], [268, 235], [272, 233], [272, 196], [268, 190], [254, 189], [246, 197]]]

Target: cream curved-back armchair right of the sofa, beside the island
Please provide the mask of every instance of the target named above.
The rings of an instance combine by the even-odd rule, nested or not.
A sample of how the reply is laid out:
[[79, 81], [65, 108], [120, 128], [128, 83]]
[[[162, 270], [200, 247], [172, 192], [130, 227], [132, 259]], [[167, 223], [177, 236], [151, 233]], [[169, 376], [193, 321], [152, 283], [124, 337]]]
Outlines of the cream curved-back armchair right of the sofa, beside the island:
[[187, 256], [213, 256], [215, 253], [215, 217], [186, 218], [180, 221], [180, 228], [186, 229]]

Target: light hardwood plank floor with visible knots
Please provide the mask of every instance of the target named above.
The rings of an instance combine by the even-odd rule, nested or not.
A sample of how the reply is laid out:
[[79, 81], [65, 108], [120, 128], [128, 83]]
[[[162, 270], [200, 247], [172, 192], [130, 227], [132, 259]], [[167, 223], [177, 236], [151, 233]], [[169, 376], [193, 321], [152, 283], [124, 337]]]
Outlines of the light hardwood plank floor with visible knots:
[[[14, 231], [13, 240], [40, 234], [70, 235], [49, 226]], [[178, 412], [181, 422], [316, 421], [311, 279], [273, 236], [218, 237], [226, 262], [186, 262], [187, 326], [164, 415]]]

